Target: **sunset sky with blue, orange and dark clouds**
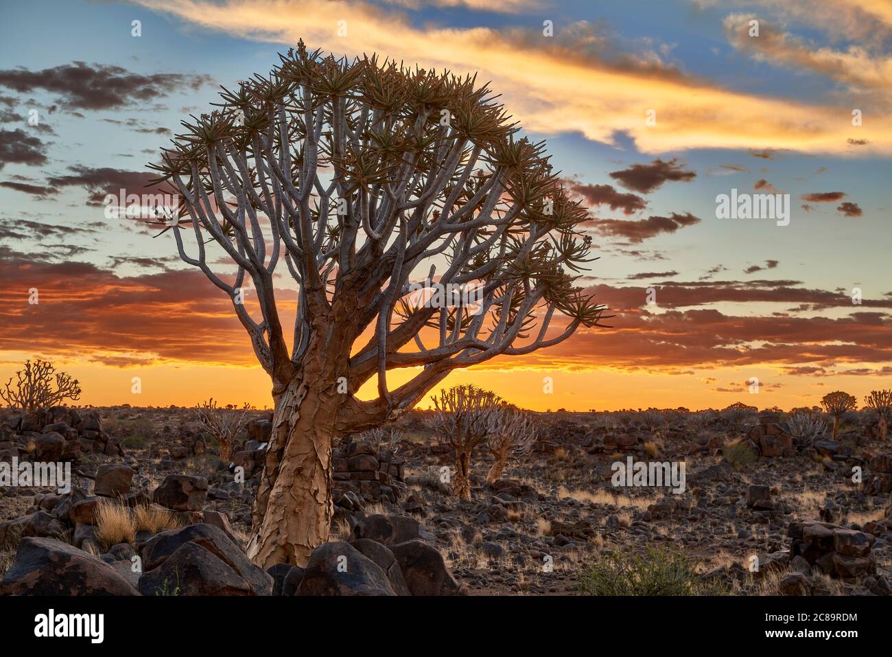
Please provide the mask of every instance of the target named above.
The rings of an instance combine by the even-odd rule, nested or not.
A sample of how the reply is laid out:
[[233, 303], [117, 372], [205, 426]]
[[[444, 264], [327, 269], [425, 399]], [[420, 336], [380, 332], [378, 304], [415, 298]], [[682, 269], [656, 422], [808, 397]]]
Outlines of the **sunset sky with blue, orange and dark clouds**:
[[[889, 0], [2, 4], [0, 383], [40, 357], [78, 403], [269, 405], [225, 295], [103, 198], [302, 38], [491, 81], [590, 208], [612, 328], [444, 385], [576, 411], [892, 387]], [[732, 190], [789, 223], [724, 217]]]

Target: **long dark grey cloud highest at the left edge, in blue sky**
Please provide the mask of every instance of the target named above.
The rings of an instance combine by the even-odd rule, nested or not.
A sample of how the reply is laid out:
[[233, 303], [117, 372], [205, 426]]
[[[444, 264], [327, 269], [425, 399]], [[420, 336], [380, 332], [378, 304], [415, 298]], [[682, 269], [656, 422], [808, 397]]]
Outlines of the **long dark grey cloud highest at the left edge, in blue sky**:
[[25, 68], [0, 71], [0, 87], [19, 93], [48, 91], [67, 108], [108, 110], [137, 102], [153, 101], [208, 83], [204, 75], [182, 73], [133, 73], [120, 66], [73, 62], [42, 71]]

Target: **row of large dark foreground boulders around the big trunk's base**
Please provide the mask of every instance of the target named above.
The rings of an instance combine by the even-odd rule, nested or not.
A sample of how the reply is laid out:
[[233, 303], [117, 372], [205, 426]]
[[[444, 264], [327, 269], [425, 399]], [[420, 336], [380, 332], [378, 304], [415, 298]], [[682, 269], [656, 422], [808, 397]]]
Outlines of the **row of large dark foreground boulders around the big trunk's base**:
[[306, 568], [280, 563], [266, 572], [208, 522], [137, 536], [136, 545], [98, 557], [55, 538], [25, 537], [0, 595], [458, 595], [425, 536], [415, 520], [370, 516], [349, 543], [314, 550]]

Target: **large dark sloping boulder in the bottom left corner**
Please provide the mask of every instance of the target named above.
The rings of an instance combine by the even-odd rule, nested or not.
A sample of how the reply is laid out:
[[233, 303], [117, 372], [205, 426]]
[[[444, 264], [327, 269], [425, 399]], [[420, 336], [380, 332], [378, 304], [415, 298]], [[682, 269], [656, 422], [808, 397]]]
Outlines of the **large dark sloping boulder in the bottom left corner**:
[[54, 538], [23, 538], [0, 595], [138, 595], [107, 563]]

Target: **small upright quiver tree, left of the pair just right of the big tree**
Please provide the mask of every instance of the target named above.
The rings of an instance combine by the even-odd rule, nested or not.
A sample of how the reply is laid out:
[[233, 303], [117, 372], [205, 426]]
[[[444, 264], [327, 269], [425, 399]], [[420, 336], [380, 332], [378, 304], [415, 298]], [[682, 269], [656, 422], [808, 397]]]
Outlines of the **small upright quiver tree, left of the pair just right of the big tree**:
[[452, 491], [471, 499], [471, 454], [497, 431], [505, 403], [499, 395], [475, 386], [455, 386], [432, 395], [435, 414], [431, 420], [437, 437], [455, 450]]

